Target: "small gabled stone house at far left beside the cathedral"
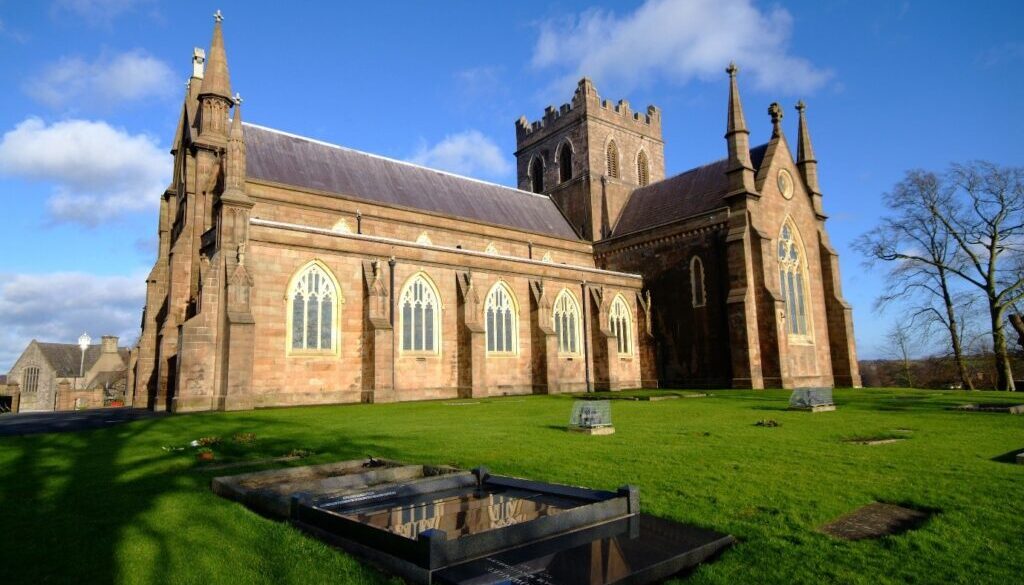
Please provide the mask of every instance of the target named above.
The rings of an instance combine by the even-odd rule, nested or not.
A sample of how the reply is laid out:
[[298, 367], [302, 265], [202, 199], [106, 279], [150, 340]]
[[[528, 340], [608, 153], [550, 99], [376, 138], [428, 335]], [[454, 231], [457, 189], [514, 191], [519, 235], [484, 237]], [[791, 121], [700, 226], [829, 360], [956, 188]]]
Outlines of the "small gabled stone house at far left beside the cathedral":
[[84, 352], [75, 343], [33, 339], [7, 374], [8, 392], [19, 394], [19, 412], [97, 408], [127, 381], [128, 349], [103, 336]]

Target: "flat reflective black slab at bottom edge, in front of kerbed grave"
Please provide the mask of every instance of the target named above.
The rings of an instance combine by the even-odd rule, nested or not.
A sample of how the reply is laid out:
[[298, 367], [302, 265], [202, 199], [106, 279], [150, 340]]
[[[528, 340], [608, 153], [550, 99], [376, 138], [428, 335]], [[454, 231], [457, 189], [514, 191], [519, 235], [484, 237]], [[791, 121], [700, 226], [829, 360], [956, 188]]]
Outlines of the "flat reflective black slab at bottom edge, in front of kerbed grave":
[[560, 535], [438, 571], [447, 585], [639, 585], [686, 571], [731, 536], [647, 514]]

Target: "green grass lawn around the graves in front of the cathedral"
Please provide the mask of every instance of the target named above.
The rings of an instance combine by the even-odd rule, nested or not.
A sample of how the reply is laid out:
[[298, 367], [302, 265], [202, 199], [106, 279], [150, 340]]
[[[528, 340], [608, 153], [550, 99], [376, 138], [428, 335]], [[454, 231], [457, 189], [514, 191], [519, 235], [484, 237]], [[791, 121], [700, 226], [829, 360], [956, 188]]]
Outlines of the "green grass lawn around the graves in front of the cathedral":
[[[838, 390], [837, 412], [785, 410], [788, 392], [612, 403], [616, 432], [565, 431], [569, 396], [353, 405], [172, 416], [68, 434], [0, 438], [0, 582], [384, 583], [292, 528], [214, 496], [191, 450], [221, 459], [293, 449], [296, 464], [374, 455], [487, 465], [592, 488], [640, 487], [644, 511], [738, 543], [692, 583], [1020, 583], [1024, 416], [947, 410], [1024, 395]], [[460, 404], [456, 403], [477, 403]], [[781, 426], [755, 426], [764, 418]], [[896, 429], [910, 429], [898, 432]], [[252, 446], [231, 444], [254, 432]], [[845, 440], [906, 435], [861, 446]], [[922, 528], [844, 542], [817, 529], [872, 501], [936, 510]], [[396, 580], [392, 580], [396, 581]]]

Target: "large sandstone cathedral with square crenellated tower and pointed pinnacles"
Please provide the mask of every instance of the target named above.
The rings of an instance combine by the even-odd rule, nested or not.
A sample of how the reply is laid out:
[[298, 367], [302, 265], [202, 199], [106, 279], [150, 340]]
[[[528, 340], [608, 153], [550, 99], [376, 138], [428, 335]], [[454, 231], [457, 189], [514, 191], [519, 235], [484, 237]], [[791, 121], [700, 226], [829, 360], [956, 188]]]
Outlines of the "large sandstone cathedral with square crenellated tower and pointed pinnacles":
[[175, 412], [635, 387], [859, 386], [804, 105], [665, 176], [660, 111], [515, 123], [518, 189], [243, 122], [196, 49], [132, 350]]

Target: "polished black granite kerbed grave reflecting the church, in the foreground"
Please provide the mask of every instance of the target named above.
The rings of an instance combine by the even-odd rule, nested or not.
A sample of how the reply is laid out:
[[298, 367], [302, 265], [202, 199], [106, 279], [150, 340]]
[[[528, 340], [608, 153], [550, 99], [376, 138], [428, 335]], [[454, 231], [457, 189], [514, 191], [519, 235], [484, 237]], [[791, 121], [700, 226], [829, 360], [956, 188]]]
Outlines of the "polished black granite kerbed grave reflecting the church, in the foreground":
[[[289, 520], [415, 583], [643, 584], [693, 568], [734, 541], [640, 513], [632, 487], [608, 492], [492, 475], [485, 468], [393, 462], [356, 471], [353, 463], [342, 466], [350, 471], [343, 474], [344, 494], [292, 494]], [[417, 467], [442, 472], [417, 474]], [[401, 473], [415, 478], [353, 489], [360, 475], [375, 482]], [[264, 480], [269, 475], [255, 484], [249, 475], [256, 491], [269, 490], [275, 500], [283, 495]], [[253, 502], [238, 494], [232, 499]]]

